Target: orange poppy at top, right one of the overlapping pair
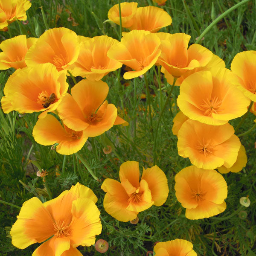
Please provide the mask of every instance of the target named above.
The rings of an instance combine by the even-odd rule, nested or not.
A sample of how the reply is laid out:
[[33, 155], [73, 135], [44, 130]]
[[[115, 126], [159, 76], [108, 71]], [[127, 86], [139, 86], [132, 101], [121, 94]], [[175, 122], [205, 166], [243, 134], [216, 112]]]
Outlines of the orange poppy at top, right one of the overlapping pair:
[[155, 6], [145, 6], [137, 8], [133, 17], [130, 30], [148, 30], [151, 33], [172, 24], [172, 18], [168, 12]]

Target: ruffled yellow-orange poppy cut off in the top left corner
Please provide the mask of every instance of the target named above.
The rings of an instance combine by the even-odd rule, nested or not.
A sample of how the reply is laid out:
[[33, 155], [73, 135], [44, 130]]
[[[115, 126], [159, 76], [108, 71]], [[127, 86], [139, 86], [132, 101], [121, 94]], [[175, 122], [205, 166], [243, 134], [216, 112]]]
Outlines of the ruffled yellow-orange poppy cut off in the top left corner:
[[8, 24], [15, 20], [26, 20], [29, 0], [0, 0], [0, 30], [7, 31]]

